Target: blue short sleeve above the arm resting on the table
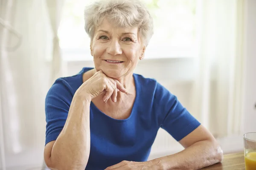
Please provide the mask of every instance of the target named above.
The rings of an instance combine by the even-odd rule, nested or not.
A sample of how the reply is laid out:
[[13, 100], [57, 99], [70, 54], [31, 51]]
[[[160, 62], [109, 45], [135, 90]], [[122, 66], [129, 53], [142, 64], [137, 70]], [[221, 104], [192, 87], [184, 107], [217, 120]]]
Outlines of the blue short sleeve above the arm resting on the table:
[[177, 97], [159, 83], [157, 83], [155, 99], [158, 102], [160, 127], [177, 141], [200, 125], [200, 122], [181, 105]]

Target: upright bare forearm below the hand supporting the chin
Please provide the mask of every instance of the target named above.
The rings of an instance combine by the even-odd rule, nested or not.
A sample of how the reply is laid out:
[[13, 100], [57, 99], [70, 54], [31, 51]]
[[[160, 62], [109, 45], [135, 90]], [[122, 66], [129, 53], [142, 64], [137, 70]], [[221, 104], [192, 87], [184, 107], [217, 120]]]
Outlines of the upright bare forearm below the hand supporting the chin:
[[90, 102], [74, 96], [67, 121], [52, 147], [56, 169], [84, 170], [90, 154]]

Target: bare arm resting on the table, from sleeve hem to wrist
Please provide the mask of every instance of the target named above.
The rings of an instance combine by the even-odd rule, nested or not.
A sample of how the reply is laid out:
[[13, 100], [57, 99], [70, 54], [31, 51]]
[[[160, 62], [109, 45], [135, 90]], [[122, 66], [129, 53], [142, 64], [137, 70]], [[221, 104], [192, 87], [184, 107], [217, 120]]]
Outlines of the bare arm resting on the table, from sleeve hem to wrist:
[[202, 125], [179, 142], [185, 147], [183, 151], [154, 159], [150, 164], [163, 170], [198, 170], [223, 159], [218, 142]]

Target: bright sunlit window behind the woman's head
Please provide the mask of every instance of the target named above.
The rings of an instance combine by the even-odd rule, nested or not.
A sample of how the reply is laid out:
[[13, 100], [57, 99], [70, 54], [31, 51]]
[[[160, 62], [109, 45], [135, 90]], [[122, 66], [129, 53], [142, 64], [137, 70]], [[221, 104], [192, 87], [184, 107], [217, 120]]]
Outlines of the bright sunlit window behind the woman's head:
[[[90, 38], [84, 31], [84, 6], [93, 0], [66, 0], [59, 28], [66, 60], [90, 60]], [[154, 19], [154, 35], [145, 59], [194, 57], [196, 0], [144, 0]]]

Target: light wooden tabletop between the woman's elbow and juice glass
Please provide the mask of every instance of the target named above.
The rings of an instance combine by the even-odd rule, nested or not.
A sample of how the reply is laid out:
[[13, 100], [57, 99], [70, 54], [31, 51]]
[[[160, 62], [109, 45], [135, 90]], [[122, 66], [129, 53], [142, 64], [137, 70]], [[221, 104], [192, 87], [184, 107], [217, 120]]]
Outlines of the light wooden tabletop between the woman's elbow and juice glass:
[[221, 163], [205, 167], [201, 170], [245, 170], [244, 153], [224, 155], [224, 159]]

